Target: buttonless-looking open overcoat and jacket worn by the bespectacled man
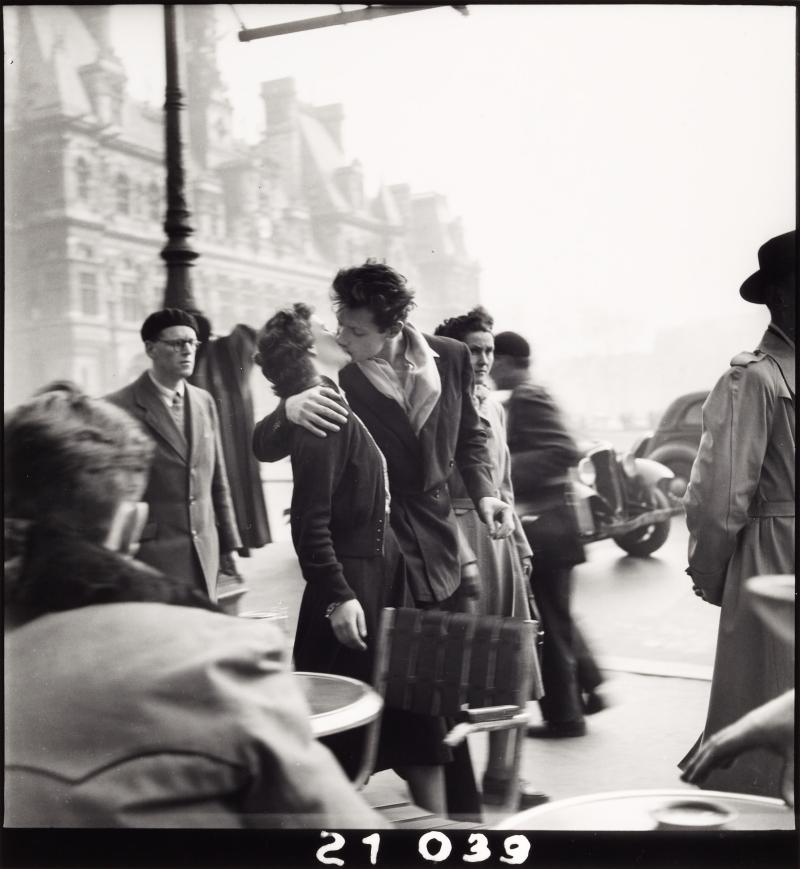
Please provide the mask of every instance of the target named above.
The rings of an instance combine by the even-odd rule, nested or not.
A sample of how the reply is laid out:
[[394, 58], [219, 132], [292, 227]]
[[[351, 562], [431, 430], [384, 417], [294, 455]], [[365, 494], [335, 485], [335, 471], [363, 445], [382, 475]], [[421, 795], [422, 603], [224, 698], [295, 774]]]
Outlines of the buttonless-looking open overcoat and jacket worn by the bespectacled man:
[[188, 441], [148, 372], [107, 400], [139, 420], [156, 442], [143, 497], [150, 515], [136, 557], [167, 576], [193, 579], [216, 600], [219, 553], [238, 549], [241, 541], [213, 398], [186, 384]]

